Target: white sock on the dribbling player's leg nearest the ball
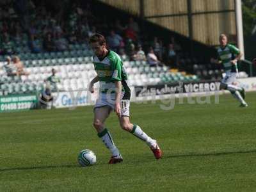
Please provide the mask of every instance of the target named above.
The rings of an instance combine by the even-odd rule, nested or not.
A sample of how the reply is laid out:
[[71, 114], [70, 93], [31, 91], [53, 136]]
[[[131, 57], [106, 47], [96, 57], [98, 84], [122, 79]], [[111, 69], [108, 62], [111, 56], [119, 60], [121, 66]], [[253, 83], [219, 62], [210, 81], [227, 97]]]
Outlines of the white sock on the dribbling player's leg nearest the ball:
[[112, 156], [119, 156], [119, 150], [116, 147], [108, 129], [104, 129], [102, 132], [99, 132], [98, 136], [101, 138], [106, 147], [111, 151]]

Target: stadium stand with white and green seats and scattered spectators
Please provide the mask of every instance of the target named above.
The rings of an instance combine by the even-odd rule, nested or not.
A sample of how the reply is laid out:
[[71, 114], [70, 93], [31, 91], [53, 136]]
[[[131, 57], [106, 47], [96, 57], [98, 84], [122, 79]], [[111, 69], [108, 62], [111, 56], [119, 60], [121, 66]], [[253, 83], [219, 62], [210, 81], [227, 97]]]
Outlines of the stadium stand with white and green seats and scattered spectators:
[[[40, 3], [36, 4], [36, 1], [29, 2], [26, 6], [28, 6], [27, 9], [33, 8], [31, 20], [26, 17], [26, 14], [19, 19], [12, 17], [18, 14], [15, 12], [16, 9], [12, 8], [13, 4], [8, 4], [12, 12], [6, 10], [4, 17], [1, 17], [4, 21], [0, 25], [3, 32], [0, 91], [4, 95], [41, 92], [52, 68], [57, 70], [57, 76], [61, 79], [58, 83], [60, 91], [86, 88], [90, 79], [95, 76], [92, 63], [93, 52], [88, 45], [88, 36], [95, 31], [104, 33], [104, 31], [110, 32], [111, 29], [115, 29], [115, 31], [112, 30], [112, 35], [116, 33], [119, 36], [120, 42], [115, 49], [124, 60], [132, 86], [198, 81], [200, 78], [220, 79], [221, 77], [220, 68], [205, 65], [204, 61], [198, 58], [191, 59], [173, 37], [170, 38], [171, 45], [168, 43], [165, 46], [163, 40], [157, 36], [151, 38], [143, 36], [138, 23], [132, 17], [127, 17], [126, 20], [129, 21], [124, 24], [120, 24], [120, 20], [109, 23], [106, 21], [108, 18], [102, 20], [93, 15], [91, 11], [93, 5], [89, 1], [83, 6], [72, 4], [67, 20], [60, 22], [58, 20], [60, 15], [54, 15], [49, 8]], [[115, 43], [115, 39], [111, 40]], [[158, 60], [165, 64], [150, 67], [146, 60], [137, 59], [137, 47], [140, 53], [143, 48], [146, 50], [152, 47]], [[175, 60], [168, 60], [170, 51], [172, 55], [175, 52]], [[3, 70], [6, 56], [14, 55], [22, 61], [24, 70], [28, 72], [27, 76], [10, 77]]]

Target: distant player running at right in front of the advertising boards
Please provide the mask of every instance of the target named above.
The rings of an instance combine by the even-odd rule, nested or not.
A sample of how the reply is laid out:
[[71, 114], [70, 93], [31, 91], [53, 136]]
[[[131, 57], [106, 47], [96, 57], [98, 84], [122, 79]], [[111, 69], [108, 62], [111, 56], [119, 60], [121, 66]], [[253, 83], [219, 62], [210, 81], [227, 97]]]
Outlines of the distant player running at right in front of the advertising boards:
[[221, 80], [221, 89], [230, 91], [230, 93], [241, 103], [241, 107], [248, 107], [244, 101], [245, 93], [244, 88], [236, 86], [237, 76], [237, 61], [243, 55], [237, 47], [227, 43], [227, 36], [220, 35], [220, 47], [218, 48], [218, 60], [212, 59], [212, 63], [222, 63], [225, 69], [226, 76]]

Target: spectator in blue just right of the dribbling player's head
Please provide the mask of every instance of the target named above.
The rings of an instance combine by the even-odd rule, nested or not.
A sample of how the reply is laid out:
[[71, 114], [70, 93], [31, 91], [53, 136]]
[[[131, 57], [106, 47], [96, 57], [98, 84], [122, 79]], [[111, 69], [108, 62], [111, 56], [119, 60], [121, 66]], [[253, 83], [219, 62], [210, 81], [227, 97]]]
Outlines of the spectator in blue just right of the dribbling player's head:
[[120, 48], [124, 47], [123, 38], [116, 34], [114, 30], [111, 30], [109, 36], [107, 36], [107, 42], [109, 48], [117, 53], [119, 52]]

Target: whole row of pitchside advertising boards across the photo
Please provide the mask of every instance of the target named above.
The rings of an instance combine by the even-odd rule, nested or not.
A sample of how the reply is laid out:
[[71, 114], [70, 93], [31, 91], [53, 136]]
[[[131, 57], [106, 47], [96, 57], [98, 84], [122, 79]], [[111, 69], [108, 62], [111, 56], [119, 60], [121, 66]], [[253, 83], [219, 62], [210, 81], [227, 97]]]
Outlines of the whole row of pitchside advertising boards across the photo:
[[[237, 79], [237, 84], [246, 92], [256, 91], [256, 77]], [[207, 97], [229, 93], [220, 91], [220, 82], [202, 81], [194, 83], [156, 84], [152, 86], [131, 86], [132, 102], [143, 102], [145, 100], [159, 100], [182, 97]], [[90, 93], [88, 90], [75, 90], [68, 92], [52, 93], [54, 108], [76, 108], [77, 106], [88, 106], [95, 104], [97, 92]], [[218, 99], [218, 98], [217, 98]], [[38, 106], [38, 94], [6, 95], [0, 97], [0, 112], [22, 111], [35, 109]], [[216, 102], [216, 100], [215, 100]]]

